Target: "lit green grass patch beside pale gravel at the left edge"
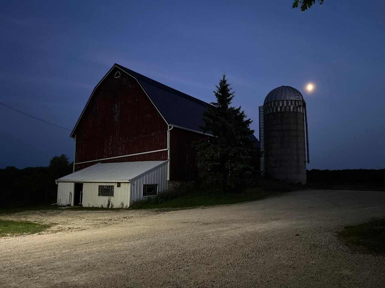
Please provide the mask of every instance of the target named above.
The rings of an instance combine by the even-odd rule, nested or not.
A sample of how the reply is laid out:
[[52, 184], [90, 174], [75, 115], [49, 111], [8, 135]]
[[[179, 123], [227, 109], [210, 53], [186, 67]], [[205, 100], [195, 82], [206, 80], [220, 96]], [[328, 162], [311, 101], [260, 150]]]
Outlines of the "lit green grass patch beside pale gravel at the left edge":
[[39, 223], [0, 220], [0, 237], [39, 233], [49, 227]]

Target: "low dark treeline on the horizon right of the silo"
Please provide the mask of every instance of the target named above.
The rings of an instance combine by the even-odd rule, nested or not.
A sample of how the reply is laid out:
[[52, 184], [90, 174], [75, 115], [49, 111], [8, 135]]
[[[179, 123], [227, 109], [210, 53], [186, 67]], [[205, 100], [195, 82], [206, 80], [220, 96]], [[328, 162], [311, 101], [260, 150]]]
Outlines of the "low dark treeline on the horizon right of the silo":
[[344, 169], [307, 171], [309, 184], [385, 186], [385, 169]]

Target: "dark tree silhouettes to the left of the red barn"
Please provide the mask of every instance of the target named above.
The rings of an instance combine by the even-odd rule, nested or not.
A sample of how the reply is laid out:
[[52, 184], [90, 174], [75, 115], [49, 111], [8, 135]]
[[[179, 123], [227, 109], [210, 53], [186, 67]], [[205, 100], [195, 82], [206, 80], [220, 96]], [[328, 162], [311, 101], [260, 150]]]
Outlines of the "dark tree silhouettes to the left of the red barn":
[[56, 202], [55, 179], [72, 173], [72, 163], [64, 154], [51, 159], [46, 167], [0, 169], [0, 207], [32, 206]]

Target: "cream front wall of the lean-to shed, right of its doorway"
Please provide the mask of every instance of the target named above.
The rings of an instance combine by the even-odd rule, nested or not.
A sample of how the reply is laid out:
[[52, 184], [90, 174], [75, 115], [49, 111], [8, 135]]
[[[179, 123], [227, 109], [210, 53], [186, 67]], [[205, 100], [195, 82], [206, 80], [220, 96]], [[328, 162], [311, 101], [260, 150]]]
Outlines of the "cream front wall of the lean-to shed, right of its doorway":
[[130, 184], [121, 183], [121, 187], [117, 187], [116, 183], [84, 183], [83, 184], [83, 207], [107, 207], [108, 198], [106, 196], [98, 196], [99, 185], [114, 185], [114, 197], [111, 197], [111, 202], [114, 208], [118, 208], [121, 202], [124, 206], [130, 202]]

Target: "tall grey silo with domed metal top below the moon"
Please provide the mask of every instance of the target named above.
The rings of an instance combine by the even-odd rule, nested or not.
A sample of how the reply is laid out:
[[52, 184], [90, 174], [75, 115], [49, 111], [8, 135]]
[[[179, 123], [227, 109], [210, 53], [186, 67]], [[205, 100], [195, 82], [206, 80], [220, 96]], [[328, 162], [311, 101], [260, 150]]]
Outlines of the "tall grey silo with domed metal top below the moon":
[[267, 94], [259, 107], [261, 172], [266, 178], [306, 184], [305, 126], [309, 163], [306, 103], [302, 94], [290, 86], [277, 87]]

